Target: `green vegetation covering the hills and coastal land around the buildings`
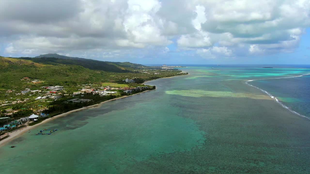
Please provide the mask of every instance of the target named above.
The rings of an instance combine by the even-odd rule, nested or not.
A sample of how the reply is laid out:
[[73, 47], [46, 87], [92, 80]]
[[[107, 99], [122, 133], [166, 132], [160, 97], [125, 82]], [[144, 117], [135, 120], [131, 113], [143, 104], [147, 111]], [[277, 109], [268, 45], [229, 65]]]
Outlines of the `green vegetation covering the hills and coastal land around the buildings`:
[[[171, 67], [148, 67], [130, 62], [104, 62], [58, 54], [45, 54], [36, 58], [0, 56], [0, 117], [7, 117], [7, 109], [15, 111], [14, 113], [9, 111], [11, 118], [0, 120], [2, 121], [0, 124], [3, 125], [12, 119], [29, 116], [33, 112], [44, 111], [52, 117], [113, 98], [141, 92], [133, 91], [132, 94], [127, 94], [120, 88], [144, 86], [141, 83], [147, 80], [183, 74], [180, 70]], [[135, 83], [125, 83], [126, 78], [134, 79]], [[51, 94], [50, 90], [44, 89], [46, 86], [56, 85], [64, 86], [64, 90], [57, 92], [58, 94]], [[117, 93], [101, 96], [93, 93], [81, 93], [82, 89], [103, 91], [107, 86], [113, 88], [110, 91]], [[37, 91], [21, 94], [21, 91], [26, 88]], [[151, 89], [155, 89], [155, 86]], [[54, 100], [52, 95], [60, 95], [61, 98]], [[37, 100], [38, 96], [46, 98]], [[91, 99], [91, 101], [80, 103], [68, 101], [73, 98]], [[48, 117], [40, 118], [32, 124], [40, 123], [46, 118]]]

